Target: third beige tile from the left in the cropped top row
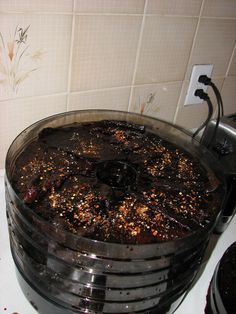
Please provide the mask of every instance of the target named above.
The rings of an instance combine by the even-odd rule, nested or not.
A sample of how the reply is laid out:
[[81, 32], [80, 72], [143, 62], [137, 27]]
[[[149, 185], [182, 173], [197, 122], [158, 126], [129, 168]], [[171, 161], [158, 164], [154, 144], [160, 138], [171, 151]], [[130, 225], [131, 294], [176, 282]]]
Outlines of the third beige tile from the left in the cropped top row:
[[198, 15], [202, 0], [149, 0], [147, 13], [170, 15]]

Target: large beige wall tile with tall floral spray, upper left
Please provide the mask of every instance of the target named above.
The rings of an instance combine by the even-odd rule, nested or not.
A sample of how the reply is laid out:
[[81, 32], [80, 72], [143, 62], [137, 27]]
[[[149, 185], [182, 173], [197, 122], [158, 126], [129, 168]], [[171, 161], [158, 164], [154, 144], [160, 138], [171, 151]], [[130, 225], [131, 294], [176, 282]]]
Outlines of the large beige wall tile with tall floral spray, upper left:
[[1, 100], [67, 90], [71, 22], [67, 15], [0, 15]]

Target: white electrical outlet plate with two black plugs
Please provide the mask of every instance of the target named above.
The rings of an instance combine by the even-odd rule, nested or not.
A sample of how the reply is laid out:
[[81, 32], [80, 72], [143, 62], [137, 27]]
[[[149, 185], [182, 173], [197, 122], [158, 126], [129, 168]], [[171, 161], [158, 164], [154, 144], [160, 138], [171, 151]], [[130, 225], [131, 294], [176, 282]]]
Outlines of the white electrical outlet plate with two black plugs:
[[194, 104], [201, 104], [203, 100], [198, 96], [195, 96], [194, 93], [196, 89], [203, 89], [204, 92], [207, 91], [207, 85], [198, 82], [198, 78], [201, 75], [207, 75], [211, 77], [211, 73], [213, 70], [213, 64], [195, 64], [193, 66], [188, 92], [185, 98], [184, 105], [194, 105]]

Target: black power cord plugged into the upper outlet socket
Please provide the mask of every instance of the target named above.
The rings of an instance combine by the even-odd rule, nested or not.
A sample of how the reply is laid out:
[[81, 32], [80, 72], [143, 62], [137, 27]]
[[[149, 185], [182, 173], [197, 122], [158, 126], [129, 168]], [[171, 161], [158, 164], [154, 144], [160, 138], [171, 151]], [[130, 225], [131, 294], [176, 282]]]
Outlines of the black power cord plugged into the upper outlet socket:
[[215, 137], [216, 137], [216, 133], [217, 133], [217, 129], [220, 123], [220, 118], [224, 115], [224, 106], [223, 106], [223, 101], [221, 98], [221, 94], [218, 90], [218, 88], [216, 87], [216, 85], [211, 81], [211, 78], [208, 77], [207, 75], [201, 75], [198, 78], [198, 82], [204, 84], [204, 85], [208, 85], [211, 86], [215, 96], [216, 96], [216, 100], [217, 100], [217, 118], [216, 118], [216, 125], [213, 131], [213, 135], [211, 140], [209, 141], [209, 144], [207, 145], [207, 147], [209, 148], [211, 145], [213, 145]]

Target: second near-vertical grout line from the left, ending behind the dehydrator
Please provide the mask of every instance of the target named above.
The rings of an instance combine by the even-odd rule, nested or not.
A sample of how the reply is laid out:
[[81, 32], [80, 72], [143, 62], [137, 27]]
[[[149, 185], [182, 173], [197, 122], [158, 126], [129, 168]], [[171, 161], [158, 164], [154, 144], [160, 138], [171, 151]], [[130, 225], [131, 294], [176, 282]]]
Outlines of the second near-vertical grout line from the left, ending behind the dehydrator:
[[143, 9], [143, 18], [142, 18], [142, 23], [141, 23], [141, 27], [140, 27], [140, 33], [139, 33], [139, 39], [138, 39], [138, 45], [137, 45], [137, 52], [136, 52], [135, 62], [134, 62], [134, 72], [133, 72], [133, 77], [132, 77], [132, 82], [131, 82], [131, 89], [130, 89], [129, 103], [128, 103], [128, 111], [130, 111], [131, 101], [132, 101], [132, 98], [133, 98], [134, 82], [135, 82], [135, 77], [136, 77], [136, 74], [137, 74], [137, 68], [138, 68], [141, 44], [142, 44], [142, 39], [143, 39], [143, 31], [144, 31], [144, 25], [145, 25], [145, 20], [146, 20], [147, 5], [148, 5], [148, 0], [145, 0], [144, 9]]

